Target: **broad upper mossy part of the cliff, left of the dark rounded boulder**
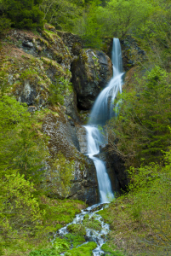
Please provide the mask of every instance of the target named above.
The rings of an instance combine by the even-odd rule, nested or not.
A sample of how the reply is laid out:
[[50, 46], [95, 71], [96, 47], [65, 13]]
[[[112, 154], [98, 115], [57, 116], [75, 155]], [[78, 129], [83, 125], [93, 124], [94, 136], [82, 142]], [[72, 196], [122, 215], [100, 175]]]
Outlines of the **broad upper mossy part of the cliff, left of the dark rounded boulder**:
[[1, 50], [4, 57], [0, 60], [4, 80], [18, 101], [36, 109], [48, 107], [51, 84], [60, 87], [66, 114], [79, 121], [77, 96], [72, 86], [68, 86], [71, 53], [54, 26], [45, 28], [39, 35], [21, 30], [7, 33]]

